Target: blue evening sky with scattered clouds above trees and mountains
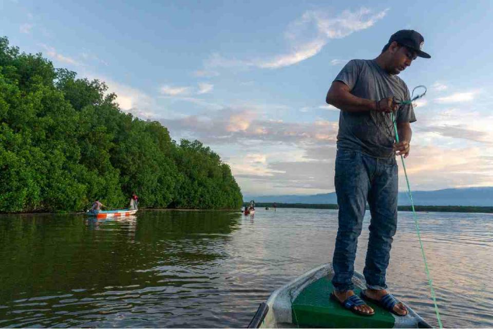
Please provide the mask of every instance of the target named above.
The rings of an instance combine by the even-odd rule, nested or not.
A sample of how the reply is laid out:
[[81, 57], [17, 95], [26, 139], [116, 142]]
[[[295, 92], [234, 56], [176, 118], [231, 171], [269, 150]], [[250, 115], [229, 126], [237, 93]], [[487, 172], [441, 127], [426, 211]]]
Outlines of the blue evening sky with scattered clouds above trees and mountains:
[[[339, 110], [325, 103], [351, 59], [400, 29], [431, 59], [406, 167], [413, 190], [493, 186], [491, 1], [0, 0], [0, 35], [55, 67], [105, 81], [122, 111], [198, 139], [244, 195], [334, 191]], [[406, 190], [400, 164], [400, 189]]]

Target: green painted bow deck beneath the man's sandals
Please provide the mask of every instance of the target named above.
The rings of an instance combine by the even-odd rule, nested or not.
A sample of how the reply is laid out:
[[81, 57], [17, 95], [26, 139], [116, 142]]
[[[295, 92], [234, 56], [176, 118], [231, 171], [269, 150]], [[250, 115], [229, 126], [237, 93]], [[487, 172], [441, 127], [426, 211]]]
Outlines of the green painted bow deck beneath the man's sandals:
[[[330, 298], [333, 287], [327, 277], [308, 285], [292, 303], [293, 323], [300, 327], [326, 328], [392, 328], [394, 317], [388, 311], [368, 303], [372, 316], [362, 316], [345, 309]], [[357, 287], [354, 293], [360, 293]]]

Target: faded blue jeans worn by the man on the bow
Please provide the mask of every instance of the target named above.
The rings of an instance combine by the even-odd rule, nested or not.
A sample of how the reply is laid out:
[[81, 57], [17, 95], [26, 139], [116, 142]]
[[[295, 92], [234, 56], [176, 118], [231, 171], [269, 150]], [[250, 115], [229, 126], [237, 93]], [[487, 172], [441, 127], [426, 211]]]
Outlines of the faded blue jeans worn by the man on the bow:
[[335, 192], [339, 228], [332, 266], [337, 291], [354, 289], [351, 278], [365, 206], [371, 213], [370, 237], [363, 274], [370, 289], [386, 289], [392, 236], [397, 227], [398, 174], [395, 157], [374, 158], [357, 151], [337, 150]]

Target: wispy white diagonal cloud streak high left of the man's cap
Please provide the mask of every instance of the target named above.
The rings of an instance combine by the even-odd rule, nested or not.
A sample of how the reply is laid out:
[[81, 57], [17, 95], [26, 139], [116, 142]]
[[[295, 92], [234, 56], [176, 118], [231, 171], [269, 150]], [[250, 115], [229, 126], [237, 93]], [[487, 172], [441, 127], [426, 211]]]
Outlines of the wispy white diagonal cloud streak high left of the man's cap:
[[[290, 66], [315, 56], [331, 39], [342, 39], [346, 36], [367, 29], [383, 19], [388, 9], [373, 13], [372, 10], [361, 8], [357, 11], [345, 10], [337, 16], [309, 10], [299, 19], [292, 22], [285, 37], [290, 44], [287, 53], [268, 59], [229, 59], [213, 53], [204, 65], [207, 68], [280, 68]], [[332, 60], [331, 65], [340, 65], [345, 61]]]

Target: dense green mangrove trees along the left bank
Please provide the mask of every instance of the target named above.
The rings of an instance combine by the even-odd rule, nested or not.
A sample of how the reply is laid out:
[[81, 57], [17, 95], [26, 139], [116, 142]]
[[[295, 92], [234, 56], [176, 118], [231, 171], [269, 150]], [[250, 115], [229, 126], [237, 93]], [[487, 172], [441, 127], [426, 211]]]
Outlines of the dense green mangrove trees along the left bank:
[[229, 166], [200, 141], [121, 111], [99, 80], [55, 69], [0, 38], [0, 212], [126, 207], [233, 209]]

